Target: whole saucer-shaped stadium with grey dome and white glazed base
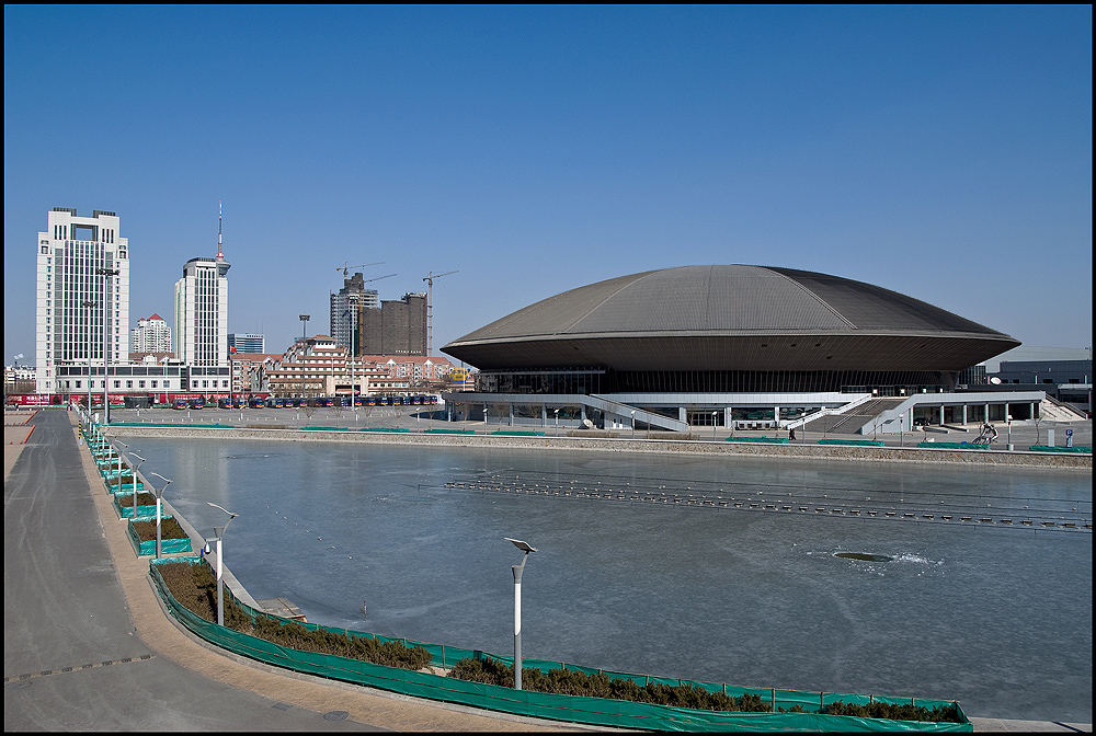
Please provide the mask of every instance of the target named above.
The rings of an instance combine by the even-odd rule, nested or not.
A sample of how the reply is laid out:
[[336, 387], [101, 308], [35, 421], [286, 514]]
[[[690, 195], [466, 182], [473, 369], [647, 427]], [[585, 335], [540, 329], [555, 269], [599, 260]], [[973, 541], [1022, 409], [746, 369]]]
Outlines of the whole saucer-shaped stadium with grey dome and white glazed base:
[[[591, 419], [673, 430], [743, 423], [787, 428], [859, 407], [857, 416], [870, 421], [858, 426], [879, 432], [894, 424], [899, 432], [899, 424], [912, 427], [927, 394], [939, 410], [921, 412], [927, 423], [1035, 416], [1038, 392], [997, 394], [990, 406], [964, 390], [975, 387], [960, 384], [966, 369], [1017, 345], [870, 284], [792, 268], [708, 265], [564, 291], [442, 350], [480, 371], [475, 393], [446, 398], [460, 418], [487, 412], [513, 424], [561, 416], [567, 426]], [[945, 394], [957, 396], [950, 412]]]

